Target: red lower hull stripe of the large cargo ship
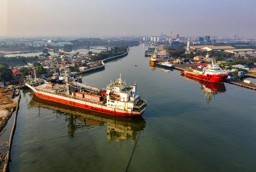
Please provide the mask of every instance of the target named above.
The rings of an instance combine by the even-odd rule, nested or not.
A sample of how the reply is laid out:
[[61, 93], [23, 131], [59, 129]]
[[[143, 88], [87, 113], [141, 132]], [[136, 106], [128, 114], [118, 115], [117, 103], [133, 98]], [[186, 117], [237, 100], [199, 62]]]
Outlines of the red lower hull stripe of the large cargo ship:
[[94, 106], [90, 106], [90, 105], [83, 105], [80, 103], [75, 103], [72, 101], [67, 101], [67, 100], [63, 100], [63, 99], [59, 99], [59, 98], [55, 98], [52, 96], [47, 96], [47, 95], [43, 95], [43, 94], [39, 94], [37, 92], [34, 92], [35, 95], [41, 99], [45, 99], [45, 100], [49, 100], [49, 101], [53, 101], [53, 102], [57, 102], [57, 103], [61, 103], [61, 104], [65, 104], [65, 105], [70, 105], [70, 106], [75, 106], [75, 107], [80, 107], [83, 109], [88, 109], [88, 110], [92, 110], [92, 111], [96, 111], [96, 112], [101, 112], [101, 113], [106, 113], [106, 114], [110, 114], [110, 115], [116, 115], [116, 116], [141, 116], [141, 114], [131, 114], [131, 113], [122, 113], [122, 112], [116, 112], [116, 111], [112, 111], [112, 110], [107, 110], [107, 109], [103, 109], [103, 108], [98, 108], [98, 107], [94, 107]]

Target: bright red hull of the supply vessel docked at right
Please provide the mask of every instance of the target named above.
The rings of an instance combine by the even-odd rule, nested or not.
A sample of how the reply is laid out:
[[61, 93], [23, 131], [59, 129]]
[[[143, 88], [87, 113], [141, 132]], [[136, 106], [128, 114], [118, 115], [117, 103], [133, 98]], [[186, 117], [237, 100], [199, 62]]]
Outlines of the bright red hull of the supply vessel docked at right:
[[227, 78], [227, 75], [202, 75], [202, 74], [193, 74], [189, 73], [187, 71], [181, 71], [184, 75], [191, 76], [193, 78], [198, 78], [200, 80], [212, 82], [212, 83], [224, 83], [225, 79]]

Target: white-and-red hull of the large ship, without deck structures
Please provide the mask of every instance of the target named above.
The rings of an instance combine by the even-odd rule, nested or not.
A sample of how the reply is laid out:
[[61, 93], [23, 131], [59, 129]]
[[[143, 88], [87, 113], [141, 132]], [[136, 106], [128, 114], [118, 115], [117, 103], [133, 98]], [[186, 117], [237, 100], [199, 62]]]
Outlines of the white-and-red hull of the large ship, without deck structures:
[[115, 115], [115, 116], [141, 116], [142, 113], [145, 111], [146, 107], [144, 107], [141, 111], [127, 111], [127, 110], [122, 110], [122, 109], [117, 109], [114, 107], [107, 107], [104, 105], [92, 103], [92, 102], [85, 102], [82, 100], [77, 100], [73, 99], [70, 97], [65, 97], [57, 94], [52, 94], [52, 93], [47, 93], [43, 91], [39, 91], [35, 89], [33, 86], [27, 85], [32, 89], [34, 94], [44, 100], [64, 104], [64, 105], [70, 105], [70, 106], [75, 106], [87, 110], [92, 110], [96, 112], [101, 112], [109, 115]]

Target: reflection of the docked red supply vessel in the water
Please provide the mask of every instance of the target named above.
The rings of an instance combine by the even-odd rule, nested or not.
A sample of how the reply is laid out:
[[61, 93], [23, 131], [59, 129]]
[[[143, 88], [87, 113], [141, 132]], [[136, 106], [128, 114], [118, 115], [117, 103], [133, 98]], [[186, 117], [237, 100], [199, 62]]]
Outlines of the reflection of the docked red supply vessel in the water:
[[226, 91], [226, 87], [224, 84], [211, 83], [211, 82], [203, 81], [203, 80], [193, 78], [190, 76], [186, 76], [183, 74], [181, 74], [181, 76], [183, 76], [187, 80], [192, 80], [192, 81], [195, 81], [195, 82], [198, 82], [199, 84], [201, 84], [201, 90], [204, 94], [204, 97], [206, 98], [207, 104], [210, 103], [210, 101], [216, 94], [223, 93]]

